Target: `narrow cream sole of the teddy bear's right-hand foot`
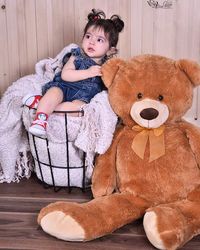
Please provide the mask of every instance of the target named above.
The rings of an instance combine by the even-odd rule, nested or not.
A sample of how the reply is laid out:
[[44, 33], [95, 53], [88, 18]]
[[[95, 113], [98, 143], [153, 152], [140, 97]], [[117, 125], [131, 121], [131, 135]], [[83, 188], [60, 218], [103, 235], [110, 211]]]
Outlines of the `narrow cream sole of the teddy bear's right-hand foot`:
[[155, 212], [150, 211], [144, 215], [143, 225], [147, 238], [151, 244], [158, 249], [166, 249], [158, 232], [157, 215]]

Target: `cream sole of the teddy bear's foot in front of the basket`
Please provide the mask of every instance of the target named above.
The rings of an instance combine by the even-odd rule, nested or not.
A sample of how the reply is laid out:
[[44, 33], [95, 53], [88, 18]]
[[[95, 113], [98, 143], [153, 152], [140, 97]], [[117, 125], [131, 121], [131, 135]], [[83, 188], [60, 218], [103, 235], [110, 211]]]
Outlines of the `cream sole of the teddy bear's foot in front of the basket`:
[[83, 241], [84, 229], [70, 215], [61, 211], [46, 214], [40, 222], [42, 229], [58, 239], [66, 241]]

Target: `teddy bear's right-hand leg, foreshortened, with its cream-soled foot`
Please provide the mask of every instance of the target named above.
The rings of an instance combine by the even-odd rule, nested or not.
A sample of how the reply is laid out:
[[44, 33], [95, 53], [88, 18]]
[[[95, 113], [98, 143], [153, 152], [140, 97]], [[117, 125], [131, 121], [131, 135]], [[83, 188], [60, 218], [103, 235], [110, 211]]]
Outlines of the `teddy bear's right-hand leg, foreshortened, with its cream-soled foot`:
[[177, 249], [200, 233], [200, 190], [186, 200], [151, 208], [144, 216], [149, 241], [158, 249]]

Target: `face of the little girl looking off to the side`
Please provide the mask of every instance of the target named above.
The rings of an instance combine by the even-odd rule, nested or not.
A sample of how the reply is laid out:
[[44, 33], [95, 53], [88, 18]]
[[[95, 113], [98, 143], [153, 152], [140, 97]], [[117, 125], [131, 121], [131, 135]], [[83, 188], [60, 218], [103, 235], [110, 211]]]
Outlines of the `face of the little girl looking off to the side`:
[[82, 49], [96, 63], [109, 51], [109, 41], [102, 29], [91, 26], [85, 33], [82, 41]]

